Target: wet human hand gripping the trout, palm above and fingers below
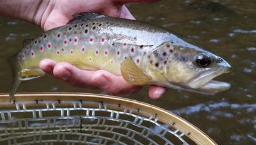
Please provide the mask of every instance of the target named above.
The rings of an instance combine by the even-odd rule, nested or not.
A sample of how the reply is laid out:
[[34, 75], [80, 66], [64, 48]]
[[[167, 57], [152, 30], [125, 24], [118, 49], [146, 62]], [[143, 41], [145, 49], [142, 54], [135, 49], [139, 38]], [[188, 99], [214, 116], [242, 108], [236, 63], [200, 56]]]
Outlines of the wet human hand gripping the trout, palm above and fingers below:
[[[50, 1], [47, 6], [40, 26], [44, 30], [66, 25], [75, 13], [88, 11], [103, 13], [108, 16], [134, 19], [129, 10], [123, 5], [125, 3], [146, 3], [157, 0], [94, 0], [86, 1], [74, 0], [72, 4], [69, 0]], [[40, 62], [40, 68], [51, 74], [57, 79], [61, 79], [71, 86], [80, 88], [101, 88], [110, 95], [131, 94], [140, 90], [142, 86], [132, 86], [124, 81], [122, 76], [115, 76], [107, 71], [85, 71], [78, 69], [66, 62], [56, 63], [46, 59]], [[149, 88], [149, 97], [152, 99], [160, 98], [166, 89], [160, 86], [151, 86]]]

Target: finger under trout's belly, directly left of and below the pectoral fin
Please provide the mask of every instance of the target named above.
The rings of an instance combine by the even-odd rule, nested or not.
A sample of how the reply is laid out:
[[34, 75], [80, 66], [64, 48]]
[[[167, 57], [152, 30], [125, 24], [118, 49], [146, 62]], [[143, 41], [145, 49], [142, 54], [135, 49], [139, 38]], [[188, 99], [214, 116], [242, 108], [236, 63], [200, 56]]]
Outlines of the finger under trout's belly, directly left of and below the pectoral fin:
[[107, 71], [96, 71], [91, 81], [95, 86], [106, 91], [110, 95], [132, 94], [141, 90], [142, 86], [133, 86], [127, 83], [122, 76], [115, 76]]

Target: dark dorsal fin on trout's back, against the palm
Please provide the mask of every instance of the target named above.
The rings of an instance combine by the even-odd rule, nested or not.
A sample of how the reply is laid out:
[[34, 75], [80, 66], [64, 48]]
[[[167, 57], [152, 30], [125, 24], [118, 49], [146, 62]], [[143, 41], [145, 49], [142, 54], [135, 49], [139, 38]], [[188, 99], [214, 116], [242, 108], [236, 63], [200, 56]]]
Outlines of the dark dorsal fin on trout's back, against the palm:
[[73, 16], [74, 16], [74, 18], [69, 20], [69, 22], [67, 24], [78, 23], [79, 21], [98, 19], [98, 18], [105, 17], [105, 15], [101, 15], [101, 14], [97, 14], [97, 13], [89, 13], [89, 12], [76, 13]]

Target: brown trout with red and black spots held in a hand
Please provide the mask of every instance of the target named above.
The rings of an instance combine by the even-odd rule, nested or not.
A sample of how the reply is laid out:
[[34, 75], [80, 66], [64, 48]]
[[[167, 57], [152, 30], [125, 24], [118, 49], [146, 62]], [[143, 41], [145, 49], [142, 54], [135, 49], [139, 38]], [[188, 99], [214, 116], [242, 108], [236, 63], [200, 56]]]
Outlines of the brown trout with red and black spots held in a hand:
[[69, 62], [80, 69], [104, 69], [122, 75], [134, 85], [211, 94], [230, 88], [212, 81], [230, 72], [231, 66], [211, 52], [176, 37], [160, 26], [96, 13], [79, 13], [67, 25], [23, 42], [23, 49], [9, 58], [13, 88], [45, 74], [42, 59]]

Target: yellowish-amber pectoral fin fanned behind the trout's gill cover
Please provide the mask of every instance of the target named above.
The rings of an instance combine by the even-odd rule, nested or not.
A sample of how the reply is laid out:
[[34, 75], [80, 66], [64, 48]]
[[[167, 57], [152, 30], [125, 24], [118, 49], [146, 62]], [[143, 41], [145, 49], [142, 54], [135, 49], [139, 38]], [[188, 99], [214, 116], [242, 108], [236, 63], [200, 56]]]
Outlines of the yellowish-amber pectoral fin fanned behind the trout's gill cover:
[[131, 57], [127, 57], [124, 62], [122, 62], [121, 73], [127, 83], [137, 86], [142, 86], [151, 80], [150, 76], [144, 74], [144, 72], [137, 67]]

